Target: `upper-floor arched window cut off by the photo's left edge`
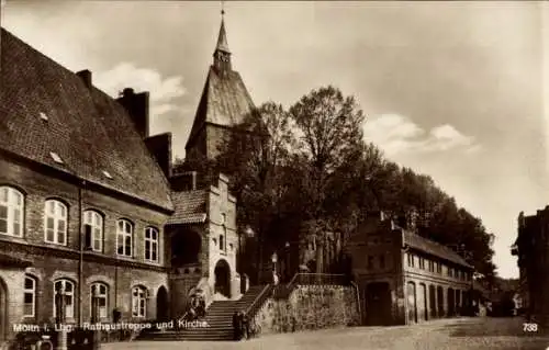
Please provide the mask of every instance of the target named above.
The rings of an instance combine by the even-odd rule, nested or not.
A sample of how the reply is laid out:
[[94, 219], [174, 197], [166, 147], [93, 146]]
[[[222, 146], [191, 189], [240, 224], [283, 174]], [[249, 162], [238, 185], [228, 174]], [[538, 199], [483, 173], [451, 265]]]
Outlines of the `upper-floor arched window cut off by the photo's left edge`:
[[0, 187], [0, 234], [23, 236], [23, 194], [9, 187]]

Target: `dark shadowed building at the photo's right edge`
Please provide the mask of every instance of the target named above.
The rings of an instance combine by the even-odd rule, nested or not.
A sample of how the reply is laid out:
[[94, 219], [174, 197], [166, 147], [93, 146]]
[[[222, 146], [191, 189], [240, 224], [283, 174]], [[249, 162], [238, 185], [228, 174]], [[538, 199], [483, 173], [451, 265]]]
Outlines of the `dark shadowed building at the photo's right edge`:
[[518, 293], [524, 312], [538, 321], [549, 321], [549, 300], [547, 291], [549, 278], [548, 240], [549, 206], [537, 211], [536, 215], [518, 215], [518, 236], [512, 247], [512, 255], [518, 257]]

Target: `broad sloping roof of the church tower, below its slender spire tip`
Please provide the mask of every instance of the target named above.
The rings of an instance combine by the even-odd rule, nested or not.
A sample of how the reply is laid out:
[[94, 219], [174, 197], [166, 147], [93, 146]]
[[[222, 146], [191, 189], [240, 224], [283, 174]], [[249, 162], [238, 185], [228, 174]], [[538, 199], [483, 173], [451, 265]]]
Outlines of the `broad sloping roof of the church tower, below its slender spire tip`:
[[233, 126], [254, 108], [254, 101], [237, 71], [222, 75], [211, 66], [200, 99], [187, 145], [189, 146], [205, 123]]

